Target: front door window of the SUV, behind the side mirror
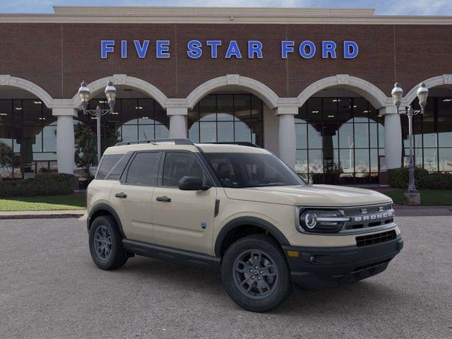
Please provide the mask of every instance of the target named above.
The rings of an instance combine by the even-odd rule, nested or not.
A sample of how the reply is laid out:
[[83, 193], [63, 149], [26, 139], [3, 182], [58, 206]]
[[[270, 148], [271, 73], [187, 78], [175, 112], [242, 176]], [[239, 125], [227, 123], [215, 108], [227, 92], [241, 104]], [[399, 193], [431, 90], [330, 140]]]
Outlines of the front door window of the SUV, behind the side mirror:
[[168, 152], [163, 165], [162, 185], [179, 186], [179, 180], [184, 176], [204, 179], [203, 167], [189, 153]]

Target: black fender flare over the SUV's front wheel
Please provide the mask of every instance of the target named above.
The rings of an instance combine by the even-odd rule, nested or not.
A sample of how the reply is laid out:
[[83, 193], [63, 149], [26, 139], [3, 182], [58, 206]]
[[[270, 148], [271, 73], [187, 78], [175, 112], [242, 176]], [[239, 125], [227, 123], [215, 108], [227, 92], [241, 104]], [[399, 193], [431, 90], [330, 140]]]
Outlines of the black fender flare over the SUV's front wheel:
[[273, 237], [275, 237], [275, 239], [278, 240], [278, 242], [281, 245], [290, 245], [289, 241], [287, 240], [287, 238], [285, 237], [283, 232], [278, 230], [278, 228], [275, 227], [275, 225], [271, 224], [270, 222], [263, 220], [261, 218], [256, 218], [256, 217], [239, 217], [239, 218], [235, 218], [235, 219], [227, 222], [227, 224], [224, 227], [222, 227], [222, 230], [220, 231], [220, 233], [218, 233], [218, 237], [215, 241], [215, 247], [214, 247], [215, 256], [220, 258], [221, 246], [222, 246], [223, 242], [225, 241], [227, 234], [230, 231], [234, 230], [234, 228], [242, 227], [242, 226], [260, 227], [263, 230], [266, 230], [269, 234], [273, 235]]

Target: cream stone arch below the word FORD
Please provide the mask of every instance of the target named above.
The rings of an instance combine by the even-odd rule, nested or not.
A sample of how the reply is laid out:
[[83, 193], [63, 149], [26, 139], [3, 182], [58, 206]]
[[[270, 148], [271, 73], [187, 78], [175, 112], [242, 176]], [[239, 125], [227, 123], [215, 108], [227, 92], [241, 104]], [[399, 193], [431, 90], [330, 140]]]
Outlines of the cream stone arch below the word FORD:
[[354, 90], [356, 93], [366, 98], [376, 109], [391, 105], [391, 98], [387, 97], [382, 90], [376, 87], [376, 85], [373, 85], [369, 83], [369, 81], [365, 81], [361, 78], [349, 76], [348, 74], [328, 76], [327, 78], [320, 79], [315, 83], [311, 83], [311, 85], [305, 88], [302, 93], [299, 93], [297, 99], [299, 100], [300, 105], [304, 105], [309, 97], [319, 92], [319, 90], [330, 88], [332, 86], [340, 86]]

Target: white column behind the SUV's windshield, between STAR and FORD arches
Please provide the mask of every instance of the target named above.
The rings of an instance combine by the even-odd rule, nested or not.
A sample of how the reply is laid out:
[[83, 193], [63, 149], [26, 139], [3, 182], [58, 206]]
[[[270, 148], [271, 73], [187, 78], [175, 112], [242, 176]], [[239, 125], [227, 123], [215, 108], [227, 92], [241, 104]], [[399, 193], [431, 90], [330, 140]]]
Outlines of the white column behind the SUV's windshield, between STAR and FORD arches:
[[295, 115], [298, 107], [278, 107], [276, 115], [279, 117], [279, 157], [290, 167], [295, 169]]

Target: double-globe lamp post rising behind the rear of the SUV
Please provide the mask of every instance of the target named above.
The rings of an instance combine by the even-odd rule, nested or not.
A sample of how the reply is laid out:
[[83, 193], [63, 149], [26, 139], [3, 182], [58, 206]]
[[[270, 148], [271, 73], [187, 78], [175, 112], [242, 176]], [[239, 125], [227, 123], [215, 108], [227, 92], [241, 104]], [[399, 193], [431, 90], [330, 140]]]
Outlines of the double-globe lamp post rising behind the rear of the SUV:
[[78, 89], [78, 96], [80, 97], [80, 101], [82, 104], [83, 114], [90, 114], [95, 119], [97, 119], [97, 165], [100, 163], [100, 157], [102, 155], [102, 150], [100, 147], [100, 118], [102, 115], [107, 113], [114, 112], [114, 103], [116, 102], [117, 90], [113, 85], [112, 81], [108, 81], [107, 87], [105, 88], [105, 97], [107, 97], [107, 102], [109, 105], [109, 109], [101, 109], [99, 105], [97, 105], [96, 109], [88, 109], [88, 102], [90, 100], [90, 89], [88, 85], [83, 81], [81, 83], [80, 88]]

